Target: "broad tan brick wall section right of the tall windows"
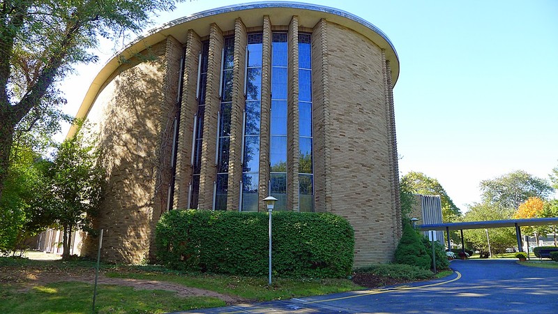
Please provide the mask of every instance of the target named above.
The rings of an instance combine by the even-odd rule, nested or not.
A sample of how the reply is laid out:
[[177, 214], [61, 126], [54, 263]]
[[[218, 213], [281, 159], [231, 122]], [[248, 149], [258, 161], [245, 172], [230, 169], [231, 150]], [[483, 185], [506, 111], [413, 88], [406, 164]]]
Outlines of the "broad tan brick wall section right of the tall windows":
[[391, 262], [398, 221], [393, 215], [382, 50], [331, 22], [325, 36], [331, 123], [331, 164], [326, 167], [331, 167], [335, 187], [331, 211], [345, 216], [355, 229], [355, 267]]

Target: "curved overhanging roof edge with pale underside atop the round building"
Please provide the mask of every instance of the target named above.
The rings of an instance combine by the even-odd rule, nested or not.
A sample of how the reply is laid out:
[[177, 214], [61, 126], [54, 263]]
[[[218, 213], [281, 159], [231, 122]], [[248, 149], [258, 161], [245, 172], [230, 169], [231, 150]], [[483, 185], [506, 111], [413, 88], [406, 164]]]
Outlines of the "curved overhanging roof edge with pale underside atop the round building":
[[[313, 27], [319, 20], [325, 18], [329, 22], [340, 24], [361, 33], [386, 51], [386, 59], [391, 61], [392, 82], [393, 84], [397, 82], [399, 59], [395, 47], [393, 47], [393, 43], [388, 36], [370, 22], [343, 10], [315, 4], [289, 1], [253, 2], [205, 10], [146, 31], [142, 36], [126, 45], [120, 52], [114, 54], [112, 59], [100, 70], [91, 82], [76, 116], [78, 118], [86, 117], [105, 82], [114, 70], [120, 66], [119, 60], [121, 60], [121, 57], [128, 57], [145, 50], [146, 47], [155, 45], [168, 36], [176, 38], [181, 43], [186, 43], [186, 30], [188, 29], [193, 29], [201, 37], [207, 36], [211, 23], [216, 23], [223, 31], [234, 29], [234, 20], [237, 17], [241, 18], [246, 27], [262, 26], [262, 16], [264, 15], [269, 15], [271, 23], [276, 25], [288, 25], [292, 16], [296, 15], [299, 17], [299, 25], [306, 27]], [[76, 130], [77, 128], [72, 126], [67, 137], [73, 136]]]

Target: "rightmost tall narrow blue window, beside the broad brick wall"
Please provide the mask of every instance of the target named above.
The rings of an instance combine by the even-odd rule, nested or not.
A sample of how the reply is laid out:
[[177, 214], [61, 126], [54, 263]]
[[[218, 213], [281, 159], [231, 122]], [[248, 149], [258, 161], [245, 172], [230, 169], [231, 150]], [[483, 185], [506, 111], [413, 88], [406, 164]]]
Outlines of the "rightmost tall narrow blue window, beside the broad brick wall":
[[314, 211], [312, 167], [312, 40], [299, 33], [299, 210]]

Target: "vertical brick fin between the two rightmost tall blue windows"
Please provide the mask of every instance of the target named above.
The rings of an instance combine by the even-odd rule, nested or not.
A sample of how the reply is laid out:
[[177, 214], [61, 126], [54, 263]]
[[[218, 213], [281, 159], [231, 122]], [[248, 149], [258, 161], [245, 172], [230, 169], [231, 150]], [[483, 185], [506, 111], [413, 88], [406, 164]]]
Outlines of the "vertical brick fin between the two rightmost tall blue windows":
[[[299, 211], [299, 17], [287, 32], [287, 210]], [[289, 193], [290, 190], [290, 193]]]

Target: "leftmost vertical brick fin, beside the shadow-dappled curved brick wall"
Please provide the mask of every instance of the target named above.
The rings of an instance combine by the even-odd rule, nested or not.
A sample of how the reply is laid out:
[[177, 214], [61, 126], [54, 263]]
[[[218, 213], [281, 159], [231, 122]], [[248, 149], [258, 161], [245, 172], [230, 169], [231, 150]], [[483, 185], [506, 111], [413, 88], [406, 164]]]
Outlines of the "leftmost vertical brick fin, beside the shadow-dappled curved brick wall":
[[[160, 103], [160, 142], [158, 167], [156, 167], [156, 182], [153, 187], [153, 209], [149, 211], [149, 232], [146, 234], [146, 244], [149, 253], [144, 257], [155, 260], [155, 227], [161, 214], [167, 209], [169, 184], [172, 180], [171, 151], [174, 143], [174, 117], [179, 110], [176, 97], [179, 93], [179, 75], [181, 73], [182, 45], [172, 36], [167, 37], [165, 43], [165, 59], [163, 61], [163, 102]], [[158, 168], [158, 169], [157, 169]], [[149, 255], [149, 256], [148, 256]], [[144, 258], [142, 257], [142, 258]], [[141, 259], [140, 259], [141, 260]]]

